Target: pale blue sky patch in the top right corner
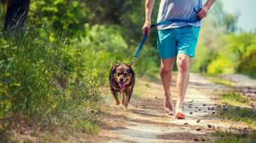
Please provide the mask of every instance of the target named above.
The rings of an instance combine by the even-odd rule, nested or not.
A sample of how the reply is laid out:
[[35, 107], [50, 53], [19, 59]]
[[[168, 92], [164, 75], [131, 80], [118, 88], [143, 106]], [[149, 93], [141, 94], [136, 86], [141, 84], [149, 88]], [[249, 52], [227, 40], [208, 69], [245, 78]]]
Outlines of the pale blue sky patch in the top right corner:
[[[220, 0], [216, 0], [220, 1]], [[240, 13], [237, 26], [247, 32], [256, 30], [256, 0], [221, 0], [228, 13]]]

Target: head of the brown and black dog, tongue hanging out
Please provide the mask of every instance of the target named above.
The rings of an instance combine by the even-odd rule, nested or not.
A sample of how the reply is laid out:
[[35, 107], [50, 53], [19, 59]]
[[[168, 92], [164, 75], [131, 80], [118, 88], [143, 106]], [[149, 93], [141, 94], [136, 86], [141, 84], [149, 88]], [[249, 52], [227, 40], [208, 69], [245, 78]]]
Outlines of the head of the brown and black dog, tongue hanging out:
[[125, 85], [129, 84], [133, 79], [134, 72], [131, 64], [114, 64], [113, 77], [121, 89], [125, 89]]

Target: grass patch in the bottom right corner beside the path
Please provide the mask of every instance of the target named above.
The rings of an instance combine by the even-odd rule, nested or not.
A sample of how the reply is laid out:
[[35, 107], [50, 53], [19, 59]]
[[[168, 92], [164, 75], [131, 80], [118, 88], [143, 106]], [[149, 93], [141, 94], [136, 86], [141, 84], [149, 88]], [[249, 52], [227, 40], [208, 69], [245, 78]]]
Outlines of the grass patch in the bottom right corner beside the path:
[[216, 132], [212, 132], [212, 135], [219, 136], [218, 140], [214, 140], [214, 142], [222, 142], [222, 143], [246, 143], [246, 142], [255, 142], [256, 141], [256, 130], [249, 130], [247, 128], [237, 129], [230, 128], [229, 130], [222, 131], [217, 130]]

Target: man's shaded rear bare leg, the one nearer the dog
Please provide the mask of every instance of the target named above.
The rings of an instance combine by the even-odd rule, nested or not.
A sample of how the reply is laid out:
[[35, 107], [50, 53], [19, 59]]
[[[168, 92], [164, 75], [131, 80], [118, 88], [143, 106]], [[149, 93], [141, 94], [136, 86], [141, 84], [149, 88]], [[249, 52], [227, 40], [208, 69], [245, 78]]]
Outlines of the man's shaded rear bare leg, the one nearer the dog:
[[169, 115], [174, 114], [174, 106], [172, 104], [172, 95], [170, 93], [170, 82], [172, 79], [172, 67], [174, 63], [174, 57], [162, 59], [160, 66], [160, 76], [162, 79], [162, 85], [164, 85], [165, 104], [164, 107]]

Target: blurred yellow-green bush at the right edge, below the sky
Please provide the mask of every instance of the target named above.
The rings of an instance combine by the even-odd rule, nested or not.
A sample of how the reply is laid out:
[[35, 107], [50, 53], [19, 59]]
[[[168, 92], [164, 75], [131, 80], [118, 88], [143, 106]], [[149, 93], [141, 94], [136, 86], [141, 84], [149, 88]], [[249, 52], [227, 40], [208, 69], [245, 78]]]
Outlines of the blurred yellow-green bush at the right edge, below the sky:
[[253, 73], [256, 70], [256, 33], [230, 34], [225, 38], [222, 52], [207, 66], [209, 73]]

